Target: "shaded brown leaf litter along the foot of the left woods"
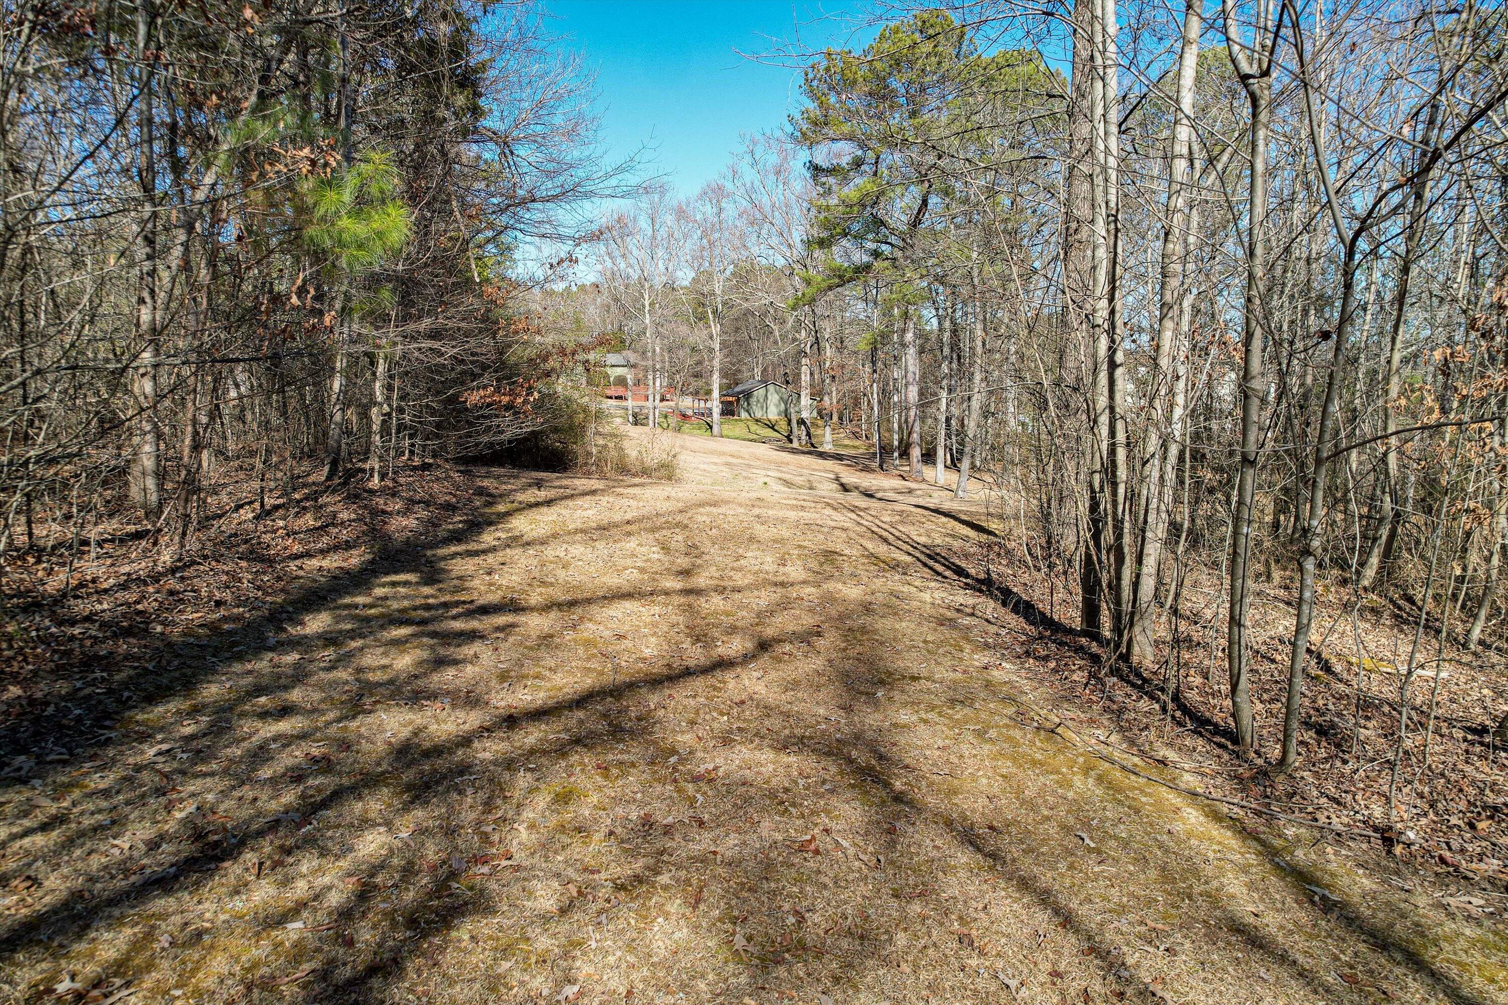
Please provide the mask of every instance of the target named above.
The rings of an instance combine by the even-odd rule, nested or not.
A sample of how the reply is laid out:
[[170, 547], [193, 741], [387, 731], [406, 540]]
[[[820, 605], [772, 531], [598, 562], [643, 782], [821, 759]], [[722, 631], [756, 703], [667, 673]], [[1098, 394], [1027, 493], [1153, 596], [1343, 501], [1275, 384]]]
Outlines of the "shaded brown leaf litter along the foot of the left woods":
[[274, 648], [279, 615], [300, 591], [443, 532], [466, 518], [480, 490], [461, 467], [416, 463], [380, 488], [324, 484], [311, 469], [265, 509], [241, 491], [211, 497], [213, 520], [182, 551], [122, 521], [104, 523], [75, 550], [42, 539], [12, 559], [0, 628], [0, 777], [109, 734], [119, 705], [149, 699], [213, 637], [241, 631], [241, 648]]

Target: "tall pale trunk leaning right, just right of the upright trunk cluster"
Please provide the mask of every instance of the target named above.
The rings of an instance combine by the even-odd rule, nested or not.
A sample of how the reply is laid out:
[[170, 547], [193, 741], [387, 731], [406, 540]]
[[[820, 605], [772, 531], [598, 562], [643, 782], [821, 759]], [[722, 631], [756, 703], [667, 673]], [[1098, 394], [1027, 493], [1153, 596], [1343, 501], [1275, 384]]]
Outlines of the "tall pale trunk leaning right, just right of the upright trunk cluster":
[[[1178, 56], [1175, 92], [1176, 118], [1169, 149], [1167, 221], [1163, 231], [1161, 291], [1157, 319], [1157, 369], [1152, 374], [1154, 404], [1152, 455], [1148, 460], [1146, 520], [1142, 526], [1142, 554], [1137, 562], [1136, 606], [1131, 615], [1131, 658], [1149, 666], [1155, 658], [1157, 585], [1163, 542], [1173, 512], [1173, 490], [1182, 407], [1176, 401], [1185, 387], [1188, 330], [1184, 289], [1188, 249], [1187, 211], [1191, 172], [1190, 149], [1194, 134], [1194, 74], [1199, 68], [1199, 35], [1203, 30], [1203, 5], [1190, 0], [1184, 8], [1184, 38]], [[1160, 399], [1167, 398], [1164, 405]], [[1172, 463], [1169, 463], [1172, 461]]]

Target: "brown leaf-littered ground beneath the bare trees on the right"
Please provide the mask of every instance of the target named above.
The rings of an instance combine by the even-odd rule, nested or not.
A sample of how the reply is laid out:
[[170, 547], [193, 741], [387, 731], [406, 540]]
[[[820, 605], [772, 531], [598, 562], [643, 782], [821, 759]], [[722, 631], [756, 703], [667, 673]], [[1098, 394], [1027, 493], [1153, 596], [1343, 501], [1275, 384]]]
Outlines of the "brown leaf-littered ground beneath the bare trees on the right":
[[[1181, 616], [1160, 612], [1175, 622], [1176, 645], [1158, 648], [1158, 666], [1107, 666], [1102, 646], [1060, 619], [1077, 610], [1071, 588], [1048, 583], [1021, 547], [985, 538], [958, 557], [1024, 622], [1007, 667], [1047, 686], [1096, 743], [1133, 764], [1196, 774], [1217, 799], [1312, 821], [1335, 839], [1371, 844], [1482, 892], [1508, 889], [1508, 752], [1490, 719], [1508, 701], [1502, 654], [1442, 646], [1439, 624], [1427, 621], [1405, 689], [1418, 610], [1321, 588], [1324, 630], [1310, 646], [1301, 756], [1277, 771], [1262, 755], [1279, 741], [1288, 686], [1292, 609], [1280, 582], [1259, 583], [1253, 604], [1252, 693], [1265, 711], [1253, 758], [1229, 728], [1221, 612], [1199, 607], [1199, 598], [1218, 597], [1217, 571], [1190, 571]], [[1503, 904], [1467, 897], [1452, 909], [1502, 913]]]

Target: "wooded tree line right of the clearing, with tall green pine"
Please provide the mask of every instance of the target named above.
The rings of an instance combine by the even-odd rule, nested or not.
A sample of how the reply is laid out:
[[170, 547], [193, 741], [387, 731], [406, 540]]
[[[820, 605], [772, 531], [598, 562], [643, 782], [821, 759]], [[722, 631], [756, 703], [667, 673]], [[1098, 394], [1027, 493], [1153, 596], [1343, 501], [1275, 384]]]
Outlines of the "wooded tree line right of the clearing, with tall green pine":
[[[1316, 589], [1353, 621], [1401, 604], [1407, 735], [1427, 649], [1503, 637], [1502, 11], [980, 0], [897, 11], [872, 39], [811, 54], [789, 133], [679, 211], [731, 193], [763, 237], [680, 271], [609, 256], [623, 327], [659, 359], [650, 301], [682, 304], [700, 390], [789, 375], [802, 416], [882, 466], [994, 484], [1110, 660], [1172, 701], [1206, 646], [1247, 750], [1253, 606], [1276, 591], [1280, 765], [1306, 664], [1351, 643], [1315, 622]], [[727, 304], [780, 333], [774, 372], [730, 357]]]

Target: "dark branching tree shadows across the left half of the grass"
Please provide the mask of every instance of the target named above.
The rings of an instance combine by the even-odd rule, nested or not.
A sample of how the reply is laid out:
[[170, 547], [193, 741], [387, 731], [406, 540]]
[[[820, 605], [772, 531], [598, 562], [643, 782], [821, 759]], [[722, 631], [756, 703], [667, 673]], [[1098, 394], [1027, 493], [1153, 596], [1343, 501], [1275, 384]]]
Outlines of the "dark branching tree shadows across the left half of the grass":
[[[581, 502], [596, 491], [600, 490], [553, 491], [532, 503], [511, 506], [502, 515], [502, 521], [534, 506]], [[437, 675], [457, 664], [457, 654], [481, 642], [508, 642], [523, 618], [541, 613], [569, 615], [584, 607], [612, 606], [620, 601], [642, 603], [661, 598], [668, 603], [685, 603], [712, 592], [719, 600], [739, 594], [739, 588], [725, 585], [676, 586], [650, 579], [638, 589], [609, 589], [591, 597], [561, 598], [553, 603], [496, 604], [434, 595], [434, 591], [445, 588], [446, 576], [442, 567], [448, 562], [478, 554], [495, 561], [504, 559], [510, 550], [537, 547], [549, 536], [559, 536], [558, 533], [543, 538], [514, 535], [510, 544], [478, 547], [475, 544], [478, 532], [496, 523], [496, 515], [472, 515], [443, 533], [428, 535], [422, 542], [391, 547], [383, 556], [353, 573], [308, 586], [290, 598], [280, 612], [282, 616], [249, 628], [255, 634], [311, 615], [329, 616], [332, 624], [317, 633], [303, 633], [299, 652], [279, 651], [262, 663], [244, 661], [240, 666], [205, 661], [182, 667], [184, 672], [158, 681], [154, 690], [139, 689], [131, 708], [125, 711], [130, 725], [121, 735], [93, 735], [89, 744], [80, 749], [81, 755], [90, 758], [86, 770], [110, 764], [112, 767], [103, 771], [113, 777], [95, 787], [87, 800], [69, 797], [72, 805], [47, 812], [33, 811], [29, 820], [17, 820], [14, 821], [17, 826], [9, 829], [11, 845], [14, 848], [24, 845], [32, 853], [23, 865], [44, 877], [44, 881], [41, 903], [14, 906], [11, 916], [0, 922], [0, 967], [26, 969], [27, 961], [45, 958], [51, 949], [68, 946], [75, 940], [92, 940], [90, 930], [130, 927], [143, 915], [151, 916], [166, 910], [167, 903], [213, 901], [216, 890], [210, 887], [223, 884], [228, 869], [240, 874], [244, 865], [250, 869], [253, 881], [262, 878], [264, 866], [273, 875], [287, 874], [288, 862], [279, 862], [284, 857], [293, 860], [302, 856], [311, 866], [318, 863], [321, 874], [369, 874], [386, 869], [419, 875], [425, 878], [421, 884], [421, 890], [425, 892], [418, 894], [418, 900], [428, 904], [425, 898], [433, 900], [433, 894], [442, 889], [436, 886], [439, 878], [428, 881], [433, 874], [437, 871], [440, 878], [449, 881], [455, 878], [452, 875], [455, 869], [436, 869], [422, 862], [416, 863], [409, 844], [398, 845], [397, 853], [362, 859], [351, 848], [342, 850], [323, 841], [320, 821], [350, 812], [354, 805], [372, 797], [374, 793], [397, 799], [410, 814], [445, 820], [448, 814], [440, 812], [439, 803], [448, 796], [451, 788], [448, 782], [464, 776], [469, 752], [478, 741], [531, 726], [543, 728], [558, 717], [572, 719], [570, 731], [561, 734], [564, 743], [552, 740], [529, 744], [516, 756], [499, 759], [493, 765], [511, 771], [528, 761], [558, 759], [572, 750], [591, 747], [609, 738], [615, 741], [632, 738], [639, 735], [639, 726], [618, 722], [612, 713], [603, 713], [602, 722], [588, 728], [582, 728], [576, 717], [603, 704], [620, 701], [630, 689], [667, 686], [722, 672], [759, 658], [772, 645], [802, 639], [801, 633], [765, 633], [743, 652], [688, 663], [648, 677], [626, 674], [620, 680], [614, 672], [611, 684], [578, 689], [559, 702], [522, 711], [511, 708], [496, 711], [489, 704], [466, 701], [464, 696], [454, 702], [443, 698], [440, 714], [469, 716], [466, 729], [452, 732], [443, 740], [422, 735], [389, 740], [385, 747], [366, 756], [353, 753], [353, 758], [360, 756], [360, 768], [353, 774], [332, 770], [329, 762], [321, 761], [324, 755], [309, 764], [300, 761], [302, 749], [327, 747], [324, 738], [342, 735], [342, 731], [350, 729], [357, 720], [371, 717], [374, 710], [385, 705], [400, 705], [406, 710], [428, 702], [440, 705], [445, 692], [437, 687]], [[564, 533], [573, 539], [611, 539], [623, 526], [621, 518], [608, 520], [597, 526], [576, 524]], [[440, 551], [445, 556], [436, 559]], [[792, 580], [783, 579], [780, 585], [789, 586]], [[759, 586], [749, 585], [748, 589]], [[385, 613], [385, 619], [398, 625], [401, 634], [394, 643], [385, 645], [374, 637], [377, 625], [366, 616], [366, 601], [371, 600], [371, 594], [388, 588], [397, 588], [406, 598], [400, 607]], [[382, 672], [391, 669], [386, 663], [389, 652], [415, 643], [422, 652], [410, 660], [406, 672]], [[320, 648], [326, 651], [309, 652]], [[362, 655], [383, 660], [383, 667], [374, 672], [359, 658]], [[220, 692], [196, 693], [228, 669], [234, 678], [222, 683]], [[312, 701], [311, 690], [315, 693]], [[160, 710], [170, 710], [169, 719], [164, 720]], [[175, 722], [185, 711], [190, 716]], [[383, 713], [379, 714], [386, 717]], [[151, 749], [142, 750], [146, 738], [167, 738], [172, 743], [155, 743]], [[213, 782], [193, 784], [199, 796], [193, 806], [175, 805], [178, 800], [173, 794], [185, 788], [178, 784], [175, 756], [182, 753], [190, 764], [195, 764], [208, 752], [232, 761], [234, 768], [219, 773], [223, 777]], [[339, 755], [329, 758], [329, 761], [339, 759]], [[71, 765], [65, 762], [42, 765], [36, 788], [66, 787], [66, 777], [81, 773], [65, 774], [66, 767]], [[152, 774], [160, 777], [152, 779]], [[241, 790], [256, 788], [256, 782], [273, 780], [279, 791], [274, 791], [271, 799], [255, 808], [241, 806], [241, 812], [220, 812], [222, 808], [229, 809], [225, 803], [237, 800]], [[169, 811], [166, 814], [160, 809], [163, 805], [160, 800], [164, 799]], [[265, 796], [258, 796], [253, 802], [261, 799]], [[119, 836], [122, 833], [124, 839]], [[412, 841], [412, 835], [409, 839]], [[302, 853], [296, 851], [303, 844], [312, 847]], [[109, 856], [118, 847], [122, 863], [128, 868], [101, 872], [100, 859], [109, 865]], [[93, 862], [78, 868], [84, 859]], [[69, 869], [68, 863], [74, 863], [74, 868]], [[464, 874], [464, 869], [460, 872]], [[243, 878], [237, 875], [237, 880]], [[374, 900], [360, 887], [356, 892], [345, 892], [321, 886], [315, 892], [317, 897], [312, 900], [321, 904], [323, 916], [333, 919], [320, 928], [344, 928], [347, 933], [351, 927], [360, 925]], [[425, 915], [427, 910], [428, 907], [410, 904], [398, 912], [398, 924], [403, 924], [406, 912]], [[264, 928], [293, 924], [293, 919], [285, 919], [279, 912], [271, 912], [264, 921]], [[116, 945], [118, 940], [112, 942], [109, 937], [103, 942], [104, 945], [97, 946], [97, 952], [89, 954], [90, 967], [101, 973], [113, 973], [134, 966], [139, 948], [130, 940], [125, 946]], [[395, 955], [391, 949], [392, 946], [385, 948], [363, 964], [365, 978], [336, 969], [344, 973], [339, 985], [351, 991], [374, 972], [391, 969], [389, 964], [404, 955], [401, 952]], [[309, 975], [300, 981], [305, 982], [315, 987], [320, 981]], [[363, 993], [353, 991], [351, 1000], [365, 1000]]]

